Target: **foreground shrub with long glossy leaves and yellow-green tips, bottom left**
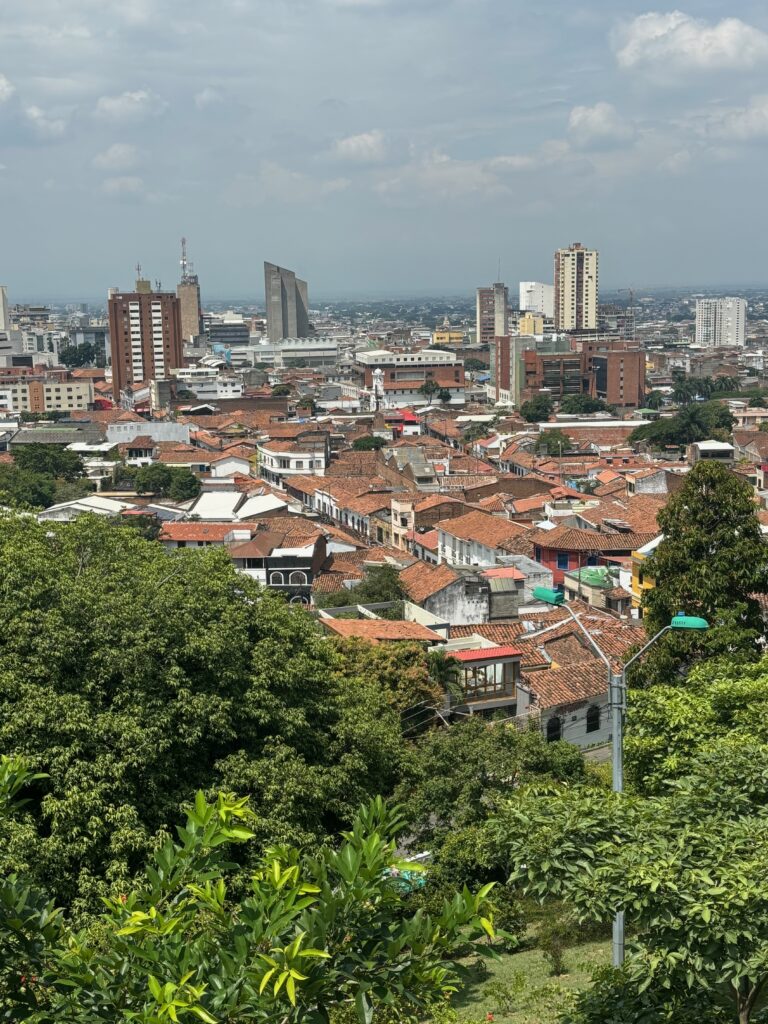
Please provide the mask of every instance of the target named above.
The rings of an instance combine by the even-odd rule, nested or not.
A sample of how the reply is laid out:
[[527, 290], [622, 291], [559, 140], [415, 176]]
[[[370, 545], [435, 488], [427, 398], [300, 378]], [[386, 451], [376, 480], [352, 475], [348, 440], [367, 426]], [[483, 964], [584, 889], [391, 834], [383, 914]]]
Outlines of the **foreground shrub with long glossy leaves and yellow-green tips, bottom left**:
[[[15, 782], [17, 762], [11, 772]], [[380, 800], [338, 847], [252, 855], [243, 892], [230, 856], [253, 845], [252, 824], [247, 801], [199, 792], [178, 839], [79, 934], [37, 891], [5, 880], [13, 906], [0, 903], [10, 961], [0, 996], [12, 1017], [319, 1024], [351, 1006], [370, 1024], [376, 1011], [413, 1016], [444, 999], [459, 981], [459, 947], [494, 935], [492, 886], [453, 894], [435, 916], [403, 912], [396, 876], [412, 865], [395, 852], [401, 821]]]

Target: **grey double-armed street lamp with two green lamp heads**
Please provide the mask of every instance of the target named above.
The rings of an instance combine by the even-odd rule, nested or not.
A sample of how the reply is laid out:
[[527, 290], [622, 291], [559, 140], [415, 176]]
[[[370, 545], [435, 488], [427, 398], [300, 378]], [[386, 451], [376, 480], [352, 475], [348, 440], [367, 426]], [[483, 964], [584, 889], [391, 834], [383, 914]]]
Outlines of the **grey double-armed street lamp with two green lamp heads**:
[[[638, 658], [649, 650], [665, 633], [671, 630], [678, 632], [702, 633], [710, 628], [706, 618], [699, 615], [686, 615], [684, 611], [679, 611], [670, 622], [669, 626], [660, 629], [655, 636], [633, 654], [629, 662], [622, 666], [621, 673], [614, 673], [610, 660], [605, 656], [597, 644], [597, 641], [584, 626], [572, 608], [565, 604], [565, 598], [559, 590], [550, 590], [548, 587], [535, 587], [534, 597], [544, 604], [552, 604], [555, 607], [563, 608], [567, 611], [579, 629], [587, 637], [590, 647], [598, 655], [600, 660], [608, 670], [608, 696], [610, 700], [611, 717], [611, 743], [610, 760], [612, 767], [612, 790], [613, 793], [624, 793], [624, 713], [627, 710], [627, 670], [634, 665]], [[613, 967], [621, 967], [624, 963], [624, 910], [618, 910], [613, 919], [613, 942], [612, 961]]]

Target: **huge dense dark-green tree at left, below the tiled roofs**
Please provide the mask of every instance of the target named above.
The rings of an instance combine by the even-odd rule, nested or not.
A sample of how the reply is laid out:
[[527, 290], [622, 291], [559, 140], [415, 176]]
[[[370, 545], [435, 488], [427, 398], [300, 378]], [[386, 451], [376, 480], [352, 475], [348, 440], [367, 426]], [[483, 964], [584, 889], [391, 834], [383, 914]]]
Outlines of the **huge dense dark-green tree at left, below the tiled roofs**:
[[198, 788], [251, 796], [262, 841], [316, 841], [390, 793], [399, 716], [313, 620], [221, 549], [97, 517], [0, 519], [0, 749], [50, 781], [18, 863], [77, 911], [125, 885]]

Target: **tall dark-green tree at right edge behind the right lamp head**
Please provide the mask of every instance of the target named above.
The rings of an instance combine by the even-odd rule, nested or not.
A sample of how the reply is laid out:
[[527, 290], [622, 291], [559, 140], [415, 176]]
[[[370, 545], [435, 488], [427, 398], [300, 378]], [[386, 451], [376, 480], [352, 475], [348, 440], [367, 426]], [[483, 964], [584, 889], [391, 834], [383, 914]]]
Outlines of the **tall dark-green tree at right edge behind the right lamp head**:
[[681, 609], [701, 615], [703, 633], [668, 634], [643, 666], [650, 677], [670, 681], [696, 657], [757, 657], [763, 618], [755, 594], [768, 587], [768, 559], [752, 487], [726, 467], [699, 462], [658, 513], [664, 541], [644, 572], [644, 614], [652, 636]]

